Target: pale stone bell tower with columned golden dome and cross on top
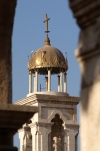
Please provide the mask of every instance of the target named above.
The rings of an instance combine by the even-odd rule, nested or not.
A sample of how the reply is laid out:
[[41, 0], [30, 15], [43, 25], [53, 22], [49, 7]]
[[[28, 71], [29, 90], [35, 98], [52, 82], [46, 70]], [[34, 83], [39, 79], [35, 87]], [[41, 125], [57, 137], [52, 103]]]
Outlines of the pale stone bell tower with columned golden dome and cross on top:
[[[20, 151], [77, 151], [77, 104], [79, 97], [67, 93], [68, 62], [51, 46], [46, 15], [46, 39], [29, 62], [29, 94], [16, 105], [37, 106], [38, 112], [19, 129]], [[57, 75], [57, 91], [51, 90], [51, 75]], [[45, 75], [45, 91], [38, 90], [38, 75]], [[33, 78], [34, 76], [34, 78]]]

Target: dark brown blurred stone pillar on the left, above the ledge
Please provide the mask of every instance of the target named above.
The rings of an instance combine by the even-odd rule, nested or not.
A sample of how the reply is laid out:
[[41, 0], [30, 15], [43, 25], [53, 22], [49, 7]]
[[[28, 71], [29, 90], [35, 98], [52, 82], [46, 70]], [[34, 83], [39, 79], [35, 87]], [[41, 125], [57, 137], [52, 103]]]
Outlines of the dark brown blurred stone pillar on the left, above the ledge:
[[12, 102], [11, 37], [16, 0], [0, 0], [0, 103]]

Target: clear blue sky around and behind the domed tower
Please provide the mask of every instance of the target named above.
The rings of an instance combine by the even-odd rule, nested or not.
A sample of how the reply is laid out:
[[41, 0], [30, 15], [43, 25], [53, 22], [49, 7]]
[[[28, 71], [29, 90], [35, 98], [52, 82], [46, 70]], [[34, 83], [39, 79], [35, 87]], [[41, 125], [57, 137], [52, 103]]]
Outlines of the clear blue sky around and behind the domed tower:
[[[49, 38], [51, 45], [62, 53], [67, 52], [68, 93], [79, 96], [80, 69], [74, 55], [78, 45], [79, 27], [69, 8], [67, 0], [18, 0], [12, 36], [13, 61], [13, 102], [28, 94], [28, 55], [44, 45], [46, 29], [43, 23], [45, 14], [50, 17]], [[44, 77], [39, 84], [44, 87]], [[52, 76], [52, 90], [57, 90], [57, 78]], [[18, 138], [15, 145], [19, 146]]]

